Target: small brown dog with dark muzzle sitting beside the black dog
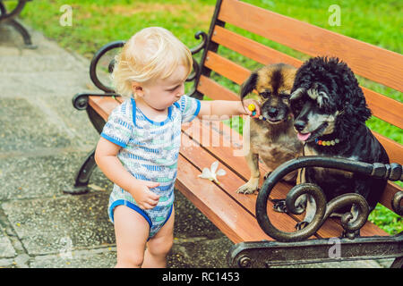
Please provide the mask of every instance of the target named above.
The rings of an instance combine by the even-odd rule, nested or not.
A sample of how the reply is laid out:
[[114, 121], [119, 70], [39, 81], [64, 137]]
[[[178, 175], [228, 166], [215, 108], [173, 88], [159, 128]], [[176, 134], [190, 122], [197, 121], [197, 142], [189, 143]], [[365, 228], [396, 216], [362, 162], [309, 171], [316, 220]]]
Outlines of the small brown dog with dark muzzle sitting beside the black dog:
[[[250, 140], [244, 141], [244, 145], [250, 143], [245, 158], [251, 178], [237, 189], [238, 193], [253, 194], [259, 189], [259, 158], [272, 172], [279, 164], [301, 155], [302, 143], [296, 138], [288, 103], [295, 76], [296, 68], [291, 65], [270, 64], [253, 71], [241, 87], [242, 100], [253, 89], [258, 92], [262, 116], [252, 118], [250, 125], [244, 124], [244, 135], [250, 134], [249, 138], [244, 136], [244, 140]], [[289, 173], [284, 179], [295, 182], [296, 172]]]

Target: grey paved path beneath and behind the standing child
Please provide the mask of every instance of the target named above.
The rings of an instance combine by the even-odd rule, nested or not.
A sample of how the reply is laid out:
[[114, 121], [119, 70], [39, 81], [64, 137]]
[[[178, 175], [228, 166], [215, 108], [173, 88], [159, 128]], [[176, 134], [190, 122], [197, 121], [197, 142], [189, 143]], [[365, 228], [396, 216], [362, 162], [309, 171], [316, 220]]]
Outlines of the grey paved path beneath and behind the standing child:
[[[0, 26], [0, 266], [112, 267], [112, 184], [99, 172], [91, 191], [63, 193], [99, 135], [72, 97], [92, 87], [90, 61], [32, 31], [35, 50]], [[231, 241], [176, 192], [169, 267], [226, 267]], [[382, 267], [376, 261], [311, 267]]]

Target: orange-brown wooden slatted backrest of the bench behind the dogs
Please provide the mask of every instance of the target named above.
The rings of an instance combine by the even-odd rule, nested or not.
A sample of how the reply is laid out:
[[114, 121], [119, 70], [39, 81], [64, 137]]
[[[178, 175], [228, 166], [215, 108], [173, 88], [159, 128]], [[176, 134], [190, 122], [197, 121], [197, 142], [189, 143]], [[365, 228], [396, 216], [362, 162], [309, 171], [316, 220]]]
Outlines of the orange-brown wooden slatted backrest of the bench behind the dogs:
[[[215, 71], [236, 85], [242, 84], [251, 72], [242, 65], [219, 55], [219, 46], [225, 46], [227, 49], [262, 64], [282, 62], [299, 67], [303, 63], [295, 57], [226, 29], [226, 23], [281, 45], [289, 46], [305, 55], [338, 56], [356, 74], [365, 79], [381, 83], [398, 92], [403, 91], [402, 55], [270, 12], [252, 4], [236, 0], [218, 0], [210, 23], [207, 48], [201, 57], [201, 76], [196, 81], [197, 91], [212, 99], [239, 100], [239, 97], [236, 92], [212, 80], [211, 71]], [[373, 116], [396, 126], [397, 130], [401, 130], [403, 128], [403, 104], [369, 88], [362, 88]], [[403, 164], [403, 145], [381, 134], [373, 133], [387, 150], [390, 163]], [[392, 209], [391, 198], [399, 190], [402, 189], [398, 185], [389, 182], [381, 201], [382, 205]]]

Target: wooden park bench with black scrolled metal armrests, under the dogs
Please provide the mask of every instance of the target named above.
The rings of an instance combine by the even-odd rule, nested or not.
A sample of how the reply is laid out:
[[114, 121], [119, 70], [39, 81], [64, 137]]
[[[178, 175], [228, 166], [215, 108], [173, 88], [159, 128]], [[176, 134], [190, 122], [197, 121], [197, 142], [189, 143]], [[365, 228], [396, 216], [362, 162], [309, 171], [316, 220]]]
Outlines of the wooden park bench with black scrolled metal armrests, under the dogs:
[[[239, 100], [236, 92], [220, 85], [215, 76], [240, 85], [250, 72], [238, 63], [219, 55], [219, 46], [225, 46], [257, 63], [289, 63], [296, 67], [301, 61], [264, 46], [230, 29], [226, 24], [250, 31], [281, 45], [289, 46], [306, 55], [339, 56], [356, 74], [384, 86], [403, 91], [403, 56], [372, 46], [354, 38], [348, 38], [302, 21], [272, 13], [268, 10], [236, 0], [219, 0], [210, 22], [209, 33], [198, 32], [195, 36], [201, 44], [192, 49], [193, 54], [202, 51], [200, 64], [193, 65], [194, 81], [192, 97], [210, 97], [212, 100]], [[112, 88], [99, 80], [97, 64], [108, 51], [122, 47], [124, 41], [103, 46], [90, 63], [90, 78], [103, 93], [80, 93], [73, 97], [73, 105], [85, 109], [96, 130], [101, 132], [108, 114], [122, 102]], [[113, 69], [114, 62], [109, 64]], [[363, 88], [373, 115], [399, 129], [403, 128], [403, 105], [378, 92]], [[391, 266], [403, 265], [403, 232], [391, 236], [361, 217], [364, 226], [343, 227], [339, 219], [317, 214], [317, 227], [296, 231], [295, 225], [303, 214], [280, 214], [273, 211], [273, 199], [286, 198], [293, 186], [280, 181], [284, 172], [308, 165], [342, 168], [364, 172], [391, 181], [401, 181], [403, 147], [399, 143], [373, 132], [386, 148], [390, 162], [396, 164], [363, 164], [347, 160], [306, 156], [283, 164], [264, 181], [259, 195], [237, 194], [236, 189], [249, 179], [250, 171], [242, 151], [242, 139], [236, 140], [234, 130], [223, 122], [206, 122], [197, 118], [182, 129], [182, 144], [178, 158], [176, 188], [197, 206], [220, 231], [235, 245], [227, 254], [228, 265], [233, 267], [264, 267], [271, 265], [304, 264], [340, 260], [370, 258], [396, 258]], [[237, 133], [236, 133], [237, 134]], [[239, 136], [240, 137], [240, 136]], [[215, 142], [215, 143], [214, 143]], [[204, 167], [219, 161], [219, 168], [227, 174], [219, 177], [219, 183], [198, 178]], [[87, 189], [90, 173], [95, 167], [94, 151], [82, 164], [72, 192]], [[261, 173], [267, 172], [260, 164]], [[402, 189], [389, 181], [381, 204], [402, 215], [400, 205]], [[263, 183], [263, 179], [261, 180]], [[347, 195], [346, 198], [350, 198]], [[318, 207], [318, 209], [321, 207]], [[326, 206], [322, 206], [322, 209]], [[270, 219], [269, 219], [270, 218]], [[269, 222], [269, 223], [268, 223]], [[366, 222], [366, 223], [365, 223]], [[355, 236], [356, 230], [360, 235]], [[342, 234], [345, 234], [342, 238]], [[334, 239], [338, 238], [338, 239]], [[339, 244], [341, 255], [330, 255], [330, 248]]]

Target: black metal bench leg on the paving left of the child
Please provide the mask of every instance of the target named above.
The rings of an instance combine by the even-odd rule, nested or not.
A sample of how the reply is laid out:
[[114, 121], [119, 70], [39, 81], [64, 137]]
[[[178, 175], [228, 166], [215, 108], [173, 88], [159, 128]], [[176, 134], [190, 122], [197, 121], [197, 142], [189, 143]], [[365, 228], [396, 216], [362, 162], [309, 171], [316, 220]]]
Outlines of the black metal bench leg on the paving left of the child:
[[68, 187], [64, 188], [63, 192], [72, 195], [81, 195], [89, 192], [90, 189], [88, 188], [88, 183], [90, 181], [90, 176], [96, 166], [97, 164], [95, 163], [95, 148], [94, 148], [85, 158], [85, 161], [81, 165], [79, 172], [77, 172], [73, 188]]

